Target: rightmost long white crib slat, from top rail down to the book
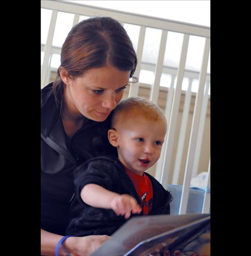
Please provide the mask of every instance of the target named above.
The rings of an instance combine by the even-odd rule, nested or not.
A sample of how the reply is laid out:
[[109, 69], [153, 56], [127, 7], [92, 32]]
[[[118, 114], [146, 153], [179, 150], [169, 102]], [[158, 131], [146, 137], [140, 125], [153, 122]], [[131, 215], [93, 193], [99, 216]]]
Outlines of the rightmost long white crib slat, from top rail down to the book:
[[190, 135], [189, 149], [187, 152], [185, 175], [183, 180], [183, 189], [181, 194], [181, 205], [179, 206], [179, 214], [185, 214], [187, 208], [187, 201], [189, 197], [189, 188], [193, 169], [193, 159], [195, 153], [195, 146], [197, 141], [197, 134], [200, 121], [200, 111], [203, 99], [203, 92], [205, 87], [206, 75], [207, 75], [207, 64], [210, 50], [210, 39], [206, 39], [205, 48], [202, 58], [202, 65], [199, 77], [199, 88], [195, 100], [195, 107], [193, 113], [192, 129]]

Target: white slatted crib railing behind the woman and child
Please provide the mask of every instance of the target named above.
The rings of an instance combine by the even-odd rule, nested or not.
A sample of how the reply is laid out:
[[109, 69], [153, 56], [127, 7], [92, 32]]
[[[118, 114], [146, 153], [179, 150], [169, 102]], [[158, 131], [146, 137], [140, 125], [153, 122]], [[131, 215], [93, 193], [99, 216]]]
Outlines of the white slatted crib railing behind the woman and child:
[[[138, 43], [137, 43], [137, 58], [138, 65], [135, 71], [135, 76], [139, 77], [140, 69], [142, 66], [149, 66], [147, 63], [142, 62], [143, 55], [143, 46], [145, 41], [145, 33], [146, 28], [157, 28], [161, 29], [161, 40], [158, 52], [158, 58], [156, 61], [156, 66], [154, 69], [154, 81], [151, 86], [150, 92], [150, 100], [155, 103], [158, 103], [159, 92], [160, 92], [160, 78], [163, 70], [171, 74], [171, 85], [167, 89], [168, 98], [165, 108], [165, 114], [168, 121], [168, 132], [166, 135], [166, 140], [164, 142], [161, 157], [156, 165], [155, 177], [158, 179], [161, 184], [166, 187], [169, 182], [169, 172], [170, 172], [170, 164], [172, 159], [172, 153], [174, 148], [174, 138], [175, 132], [177, 130], [177, 117], [179, 112], [179, 105], [182, 94], [182, 82], [184, 79], [184, 74], [188, 74], [190, 77], [189, 88], [186, 91], [185, 95], [185, 103], [183, 108], [183, 117], [181, 130], [179, 133], [179, 141], [177, 154], [175, 159], [175, 167], [174, 173], [172, 177], [172, 184], [178, 183], [179, 172], [181, 169], [182, 156], [184, 154], [184, 140], [185, 133], [187, 128], [187, 119], [189, 116], [190, 102], [191, 102], [191, 86], [192, 79], [194, 78], [194, 72], [189, 72], [185, 70], [187, 49], [189, 45], [190, 35], [201, 36], [204, 37], [205, 40], [205, 48], [202, 57], [202, 65], [199, 73], [199, 88], [195, 98], [195, 107], [193, 111], [193, 120], [192, 120], [192, 128], [190, 132], [190, 141], [189, 148], [186, 156], [186, 166], [185, 166], [185, 174], [183, 179], [183, 190], [181, 197], [181, 204], [179, 208], [179, 214], [186, 213], [187, 201], [189, 197], [189, 188], [191, 178], [197, 174], [198, 171], [198, 162], [201, 153], [201, 141], [203, 130], [205, 126], [205, 118], [207, 114], [207, 103], [208, 103], [208, 89], [210, 84], [210, 76], [207, 74], [207, 65], [208, 58], [210, 53], [210, 28], [205, 26], [198, 26], [192, 24], [186, 24], [184, 22], [171, 21], [160, 18], [153, 18], [148, 16], [142, 16], [138, 14], [132, 14], [122, 11], [114, 11], [109, 9], [103, 9], [100, 7], [62, 2], [62, 1], [41, 1], [41, 8], [52, 10], [50, 26], [48, 37], [45, 43], [45, 46], [41, 45], [41, 49], [44, 51], [44, 58], [41, 69], [41, 87], [45, 86], [49, 82], [49, 77], [51, 73], [51, 56], [53, 52], [60, 53], [60, 48], [52, 47], [53, 34], [54, 29], [56, 27], [56, 20], [58, 12], [67, 12], [73, 13], [74, 19], [73, 24], [77, 24], [79, 22], [80, 16], [109, 16], [116, 20], [119, 20], [121, 24], [133, 24], [140, 26]], [[166, 50], [166, 43], [168, 38], [168, 32], [177, 32], [184, 34], [181, 57], [179, 60], [178, 69], [168, 69], [167, 67], [163, 67], [164, 60], [164, 52]], [[175, 76], [177, 74], [177, 81], [175, 84]], [[207, 82], [206, 82], [207, 81]], [[206, 84], [206, 88], [205, 88]], [[175, 86], [176, 85], [176, 86]], [[139, 83], [134, 86], [130, 86], [129, 96], [138, 95]], [[210, 161], [209, 161], [209, 169], [208, 174], [210, 174]], [[208, 185], [210, 187], [210, 177], [208, 179]], [[205, 193], [205, 202], [203, 206], [203, 212], [209, 212], [210, 208], [210, 194]]]

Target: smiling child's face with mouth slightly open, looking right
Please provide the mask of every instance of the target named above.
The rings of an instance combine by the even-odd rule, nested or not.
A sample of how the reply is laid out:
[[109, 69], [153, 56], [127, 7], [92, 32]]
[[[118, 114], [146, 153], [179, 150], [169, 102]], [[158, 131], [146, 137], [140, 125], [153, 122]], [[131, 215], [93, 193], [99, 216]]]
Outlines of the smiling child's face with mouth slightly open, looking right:
[[131, 171], [143, 175], [159, 159], [165, 134], [164, 119], [123, 119], [122, 125], [117, 126], [119, 160]]

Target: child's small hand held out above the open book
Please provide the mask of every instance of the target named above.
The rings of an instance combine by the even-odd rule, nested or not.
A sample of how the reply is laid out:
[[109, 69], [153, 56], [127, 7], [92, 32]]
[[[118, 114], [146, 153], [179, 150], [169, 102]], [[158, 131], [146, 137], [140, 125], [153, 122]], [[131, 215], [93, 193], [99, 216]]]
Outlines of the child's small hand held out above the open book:
[[125, 219], [128, 219], [133, 214], [140, 213], [141, 207], [138, 205], [135, 198], [128, 194], [116, 195], [111, 201], [111, 208], [116, 215], [125, 215]]

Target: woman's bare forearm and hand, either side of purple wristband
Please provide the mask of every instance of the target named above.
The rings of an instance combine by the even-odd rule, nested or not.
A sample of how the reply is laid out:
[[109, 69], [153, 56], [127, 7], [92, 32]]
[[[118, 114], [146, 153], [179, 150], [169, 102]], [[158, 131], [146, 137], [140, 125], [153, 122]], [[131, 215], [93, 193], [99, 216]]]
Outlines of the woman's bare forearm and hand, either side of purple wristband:
[[[62, 236], [52, 234], [41, 229], [41, 255], [54, 256], [55, 247]], [[72, 256], [88, 256], [103, 244], [109, 236], [86, 236], [69, 237], [64, 242], [64, 247], [69, 250]], [[67, 255], [63, 250], [59, 251], [60, 256]]]

